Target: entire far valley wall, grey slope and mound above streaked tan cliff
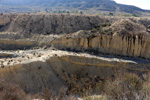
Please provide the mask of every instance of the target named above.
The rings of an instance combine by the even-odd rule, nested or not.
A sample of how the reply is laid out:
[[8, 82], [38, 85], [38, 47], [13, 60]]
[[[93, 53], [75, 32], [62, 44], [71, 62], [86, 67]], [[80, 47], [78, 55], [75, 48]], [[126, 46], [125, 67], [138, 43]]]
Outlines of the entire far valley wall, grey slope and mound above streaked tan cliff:
[[[1, 19], [4, 16], [8, 15], [1, 15]], [[13, 18], [10, 19], [10, 16], [13, 16]], [[148, 31], [150, 20], [144, 18], [120, 19], [121, 18], [117, 19], [85, 15], [18, 14], [9, 15], [5, 18], [5, 23], [1, 22], [0, 24], [3, 26], [1, 30], [4, 33], [14, 32], [19, 35], [25, 34], [29, 38], [27, 40], [45, 43], [46, 45], [49, 45], [50, 42], [52, 42], [51, 44], [58, 49], [70, 49], [77, 51], [91, 50], [104, 54], [150, 58], [148, 38], [150, 36], [150, 32]], [[98, 34], [96, 36], [92, 36], [95, 34], [92, 31], [79, 31], [91, 30], [93, 28], [101, 27], [103, 24], [110, 24], [110, 26], [100, 29], [102, 31], [96, 31], [95, 33]], [[45, 35], [44, 37], [40, 37], [37, 35], [62, 33], [77, 36], [60, 36], [61, 38], [57, 39], [57, 37], [53, 36], [47, 37], [47, 35]], [[37, 36], [31, 37], [29, 34], [35, 34]], [[78, 34], [81, 36], [78, 36]], [[10, 39], [9, 37], [12, 37], [14, 39], [23, 39], [23, 37], [19, 35], [7, 36], [6, 34], [1, 34], [0, 38], [7, 37]], [[0, 42], [1, 48], [4, 48], [5, 45], [6, 47], [9, 47], [11, 43]], [[23, 46], [25, 45], [21, 45], [21, 48]], [[10, 46], [10, 48], [13, 47]]]

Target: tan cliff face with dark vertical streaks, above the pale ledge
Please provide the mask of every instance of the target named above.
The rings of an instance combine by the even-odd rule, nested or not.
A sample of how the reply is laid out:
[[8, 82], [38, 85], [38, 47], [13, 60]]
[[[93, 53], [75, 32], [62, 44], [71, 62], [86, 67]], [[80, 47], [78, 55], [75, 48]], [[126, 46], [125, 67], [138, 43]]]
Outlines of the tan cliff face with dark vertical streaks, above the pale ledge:
[[53, 41], [53, 45], [64, 50], [91, 50], [104, 54], [150, 58], [150, 41], [145, 37], [99, 35], [93, 38], [60, 38]]

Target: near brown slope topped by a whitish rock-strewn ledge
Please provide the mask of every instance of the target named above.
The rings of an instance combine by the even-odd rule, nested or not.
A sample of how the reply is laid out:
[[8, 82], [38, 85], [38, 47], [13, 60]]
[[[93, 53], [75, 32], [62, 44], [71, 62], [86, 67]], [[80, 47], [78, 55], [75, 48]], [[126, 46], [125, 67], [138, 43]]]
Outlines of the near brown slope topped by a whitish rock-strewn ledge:
[[[140, 63], [140, 59], [134, 61], [56, 50], [23, 52], [3, 61], [6, 65], [0, 68], [0, 79], [19, 84], [27, 93], [33, 94], [44, 88], [57, 93], [61, 87], [65, 87], [66, 93], [80, 93], [86, 86], [94, 88], [99, 81], [113, 79], [120, 71], [141, 75], [150, 70], [150, 62]], [[17, 60], [21, 62], [14, 63]]]

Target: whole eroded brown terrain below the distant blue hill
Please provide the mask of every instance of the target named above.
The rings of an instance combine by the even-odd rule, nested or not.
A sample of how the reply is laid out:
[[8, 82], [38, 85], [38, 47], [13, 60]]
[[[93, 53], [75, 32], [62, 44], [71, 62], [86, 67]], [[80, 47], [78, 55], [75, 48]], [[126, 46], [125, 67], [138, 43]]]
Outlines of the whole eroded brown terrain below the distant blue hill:
[[0, 14], [0, 100], [136, 100], [149, 66], [150, 18]]

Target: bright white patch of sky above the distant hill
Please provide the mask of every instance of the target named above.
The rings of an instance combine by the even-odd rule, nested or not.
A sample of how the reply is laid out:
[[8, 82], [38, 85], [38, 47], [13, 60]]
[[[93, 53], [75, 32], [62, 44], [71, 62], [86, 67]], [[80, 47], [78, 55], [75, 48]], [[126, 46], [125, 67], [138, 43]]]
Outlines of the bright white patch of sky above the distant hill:
[[134, 5], [142, 9], [150, 10], [150, 0], [114, 0], [117, 3]]

